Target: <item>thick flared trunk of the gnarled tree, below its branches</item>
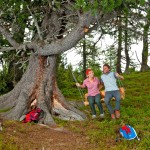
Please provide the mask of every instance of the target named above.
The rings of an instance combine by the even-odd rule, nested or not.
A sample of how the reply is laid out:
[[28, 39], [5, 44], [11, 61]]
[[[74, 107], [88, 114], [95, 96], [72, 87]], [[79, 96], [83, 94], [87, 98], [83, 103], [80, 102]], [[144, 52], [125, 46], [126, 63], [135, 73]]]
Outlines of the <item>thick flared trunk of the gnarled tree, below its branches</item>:
[[55, 124], [53, 115], [65, 120], [83, 120], [85, 114], [69, 105], [56, 85], [56, 57], [31, 55], [29, 66], [21, 81], [8, 94], [0, 97], [0, 109], [9, 108], [2, 116], [19, 120], [28, 106], [37, 99], [45, 112], [44, 124]]

